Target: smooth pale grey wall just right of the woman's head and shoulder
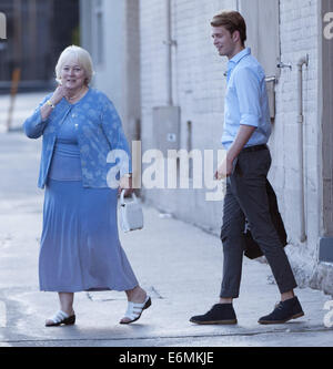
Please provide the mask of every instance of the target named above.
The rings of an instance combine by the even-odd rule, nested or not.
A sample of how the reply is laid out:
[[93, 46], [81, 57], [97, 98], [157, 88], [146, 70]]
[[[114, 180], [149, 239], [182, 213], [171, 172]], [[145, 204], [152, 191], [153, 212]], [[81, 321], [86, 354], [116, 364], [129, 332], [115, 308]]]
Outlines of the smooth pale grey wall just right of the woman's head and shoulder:
[[94, 62], [93, 85], [114, 103], [129, 141], [140, 122], [139, 1], [81, 0], [82, 47]]

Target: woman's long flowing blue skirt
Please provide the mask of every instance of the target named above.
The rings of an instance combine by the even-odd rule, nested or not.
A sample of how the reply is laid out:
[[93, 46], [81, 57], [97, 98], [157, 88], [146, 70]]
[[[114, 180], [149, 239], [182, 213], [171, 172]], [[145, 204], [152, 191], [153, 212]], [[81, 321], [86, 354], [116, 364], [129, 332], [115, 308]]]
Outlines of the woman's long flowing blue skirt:
[[119, 242], [117, 189], [48, 180], [39, 280], [41, 290], [59, 293], [138, 286]]

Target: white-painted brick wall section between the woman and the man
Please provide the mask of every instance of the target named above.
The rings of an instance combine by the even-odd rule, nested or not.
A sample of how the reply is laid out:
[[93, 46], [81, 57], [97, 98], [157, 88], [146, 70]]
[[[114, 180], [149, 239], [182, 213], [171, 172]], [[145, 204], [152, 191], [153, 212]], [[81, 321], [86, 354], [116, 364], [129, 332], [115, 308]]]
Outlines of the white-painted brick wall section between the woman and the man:
[[[152, 109], [165, 105], [167, 1], [141, 0], [141, 103], [143, 151], [152, 147]], [[181, 106], [181, 147], [186, 147], [186, 122], [192, 123], [192, 148], [220, 150], [223, 130], [223, 91], [226, 62], [212, 45], [210, 19], [235, 1], [180, 0], [172, 2], [173, 102]], [[213, 173], [212, 173], [213, 175]], [[206, 191], [144, 192], [145, 199], [163, 211], [210, 229], [221, 226], [221, 203], [205, 202]]]

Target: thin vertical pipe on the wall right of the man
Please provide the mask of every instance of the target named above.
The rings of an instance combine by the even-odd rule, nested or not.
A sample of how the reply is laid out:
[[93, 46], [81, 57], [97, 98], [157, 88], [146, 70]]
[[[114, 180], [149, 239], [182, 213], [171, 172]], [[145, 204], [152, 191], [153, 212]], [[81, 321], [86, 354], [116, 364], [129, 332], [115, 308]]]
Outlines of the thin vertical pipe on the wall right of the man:
[[301, 215], [301, 234], [300, 240], [304, 243], [305, 233], [305, 198], [304, 198], [304, 146], [303, 146], [303, 65], [309, 65], [309, 55], [303, 57], [297, 62], [297, 124], [299, 124], [299, 157], [300, 157], [300, 215]]

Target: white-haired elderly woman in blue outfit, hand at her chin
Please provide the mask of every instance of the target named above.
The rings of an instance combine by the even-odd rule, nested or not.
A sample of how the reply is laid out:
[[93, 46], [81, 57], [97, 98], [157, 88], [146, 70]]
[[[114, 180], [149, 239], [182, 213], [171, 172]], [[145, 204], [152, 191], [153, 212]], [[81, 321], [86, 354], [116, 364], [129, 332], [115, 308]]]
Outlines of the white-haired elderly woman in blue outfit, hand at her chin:
[[[131, 188], [129, 146], [112, 102], [89, 88], [92, 73], [90, 54], [67, 48], [56, 66], [59, 86], [23, 124], [28, 137], [43, 136], [39, 279], [41, 290], [58, 291], [60, 299], [60, 310], [46, 321], [48, 327], [75, 322], [77, 291], [124, 290], [129, 303], [121, 324], [138, 320], [151, 305], [120, 245], [118, 189], [107, 181], [118, 165], [119, 188]], [[112, 150], [124, 151], [127, 163], [108, 163]]]

